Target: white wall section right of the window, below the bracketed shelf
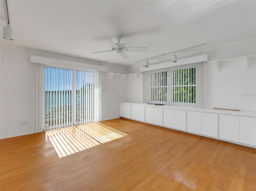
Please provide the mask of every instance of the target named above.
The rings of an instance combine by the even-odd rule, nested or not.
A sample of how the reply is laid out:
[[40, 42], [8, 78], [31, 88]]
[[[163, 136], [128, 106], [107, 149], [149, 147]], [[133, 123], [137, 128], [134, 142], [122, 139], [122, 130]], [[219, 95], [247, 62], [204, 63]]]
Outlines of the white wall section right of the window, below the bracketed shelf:
[[204, 65], [204, 106], [256, 111], [256, 59]]

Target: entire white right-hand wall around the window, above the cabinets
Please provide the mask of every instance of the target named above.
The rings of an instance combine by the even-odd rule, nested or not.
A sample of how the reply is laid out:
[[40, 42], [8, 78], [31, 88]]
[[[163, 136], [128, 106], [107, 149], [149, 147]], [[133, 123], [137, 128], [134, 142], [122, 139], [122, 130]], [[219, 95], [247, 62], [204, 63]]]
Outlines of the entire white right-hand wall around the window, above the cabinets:
[[[209, 60], [226, 59], [256, 54], [256, 40], [242, 41], [211, 49], [194, 49], [178, 58], [208, 54]], [[249, 59], [250, 69], [243, 60], [221, 63], [221, 71], [216, 64], [204, 65], [204, 107], [229, 108], [256, 112], [256, 59]], [[164, 60], [163, 62], [166, 62]], [[155, 62], [154, 64], [159, 63]], [[138, 73], [144, 63], [128, 68], [128, 73]], [[127, 81], [127, 101], [142, 102], [142, 78]], [[136, 92], [140, 94], [136, 94]], [[129, 94], [130, 93], [130, 94]]]

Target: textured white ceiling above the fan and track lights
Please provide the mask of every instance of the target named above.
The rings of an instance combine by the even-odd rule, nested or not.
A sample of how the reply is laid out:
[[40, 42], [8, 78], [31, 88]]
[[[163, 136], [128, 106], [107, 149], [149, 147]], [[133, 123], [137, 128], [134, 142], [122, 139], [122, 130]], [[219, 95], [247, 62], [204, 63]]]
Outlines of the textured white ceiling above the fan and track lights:
[[[0, 6], [2, 30], [3, 0]], [[3, 44], [121, 65], [202, 43], [256, 38], [256, 1], [8, 0], [8, 9], [14, 41], [1, 37]], [[149, 51], [126, 52], [126, 60], [114, 51], [92, 54], [111, 49], [102, 38], [117, 42], [118, 35], [126, 46]]]

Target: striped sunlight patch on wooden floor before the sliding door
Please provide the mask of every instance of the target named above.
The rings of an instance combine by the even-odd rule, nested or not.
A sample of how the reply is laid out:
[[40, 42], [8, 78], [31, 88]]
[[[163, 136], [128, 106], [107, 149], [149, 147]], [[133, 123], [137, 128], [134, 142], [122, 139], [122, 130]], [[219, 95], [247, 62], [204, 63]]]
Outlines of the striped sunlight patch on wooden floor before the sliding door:
[[121, 138], [127, 134], [101, 123], [46, 131], [60, 158]]

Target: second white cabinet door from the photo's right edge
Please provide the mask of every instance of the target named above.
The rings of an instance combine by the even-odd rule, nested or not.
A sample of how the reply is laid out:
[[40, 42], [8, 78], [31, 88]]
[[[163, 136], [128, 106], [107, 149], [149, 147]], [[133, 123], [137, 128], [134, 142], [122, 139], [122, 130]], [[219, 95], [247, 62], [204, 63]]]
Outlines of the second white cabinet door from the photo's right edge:
[[239, 117], [220, 115], [220, 138], [239, 142]]

